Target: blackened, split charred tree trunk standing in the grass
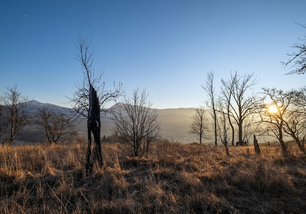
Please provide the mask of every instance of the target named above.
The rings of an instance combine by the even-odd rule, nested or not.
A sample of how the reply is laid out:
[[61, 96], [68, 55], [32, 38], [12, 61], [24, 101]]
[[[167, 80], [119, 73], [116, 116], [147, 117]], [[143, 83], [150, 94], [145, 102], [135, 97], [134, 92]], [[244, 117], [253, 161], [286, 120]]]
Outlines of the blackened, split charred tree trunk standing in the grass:
[[[89, 110], [87, 118], [87, 133], [88, 133], [88, 147], [86, 155], [86, 171], [91, 172], [93, 164], [97, 163], [99, 167], [103, 165], [102, 152], [101, 152], [101, 142], [100, 142], [100, 104], [97, 96], [97, 91], [90, 84], [89, 92]], [[92, 148], [92, 137], [94, 145]]]

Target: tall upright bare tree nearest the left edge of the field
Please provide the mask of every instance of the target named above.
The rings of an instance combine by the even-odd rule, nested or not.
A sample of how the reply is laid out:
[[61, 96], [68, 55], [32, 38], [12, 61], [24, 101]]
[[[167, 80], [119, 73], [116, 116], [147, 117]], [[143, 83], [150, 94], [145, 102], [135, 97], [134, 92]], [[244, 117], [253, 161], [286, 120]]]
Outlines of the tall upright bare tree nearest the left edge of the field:
[[2, 96], [4, 104], [4, 114], [7, 116], [8, 122], [8, 139], [7, 144], [12, 145], [16, 134], [28, 124], [30, 120], [29, 106], [32, 103], [28, 97], [22, 96], [17, 90], [17, 86], [6, 87], [7, 92]]

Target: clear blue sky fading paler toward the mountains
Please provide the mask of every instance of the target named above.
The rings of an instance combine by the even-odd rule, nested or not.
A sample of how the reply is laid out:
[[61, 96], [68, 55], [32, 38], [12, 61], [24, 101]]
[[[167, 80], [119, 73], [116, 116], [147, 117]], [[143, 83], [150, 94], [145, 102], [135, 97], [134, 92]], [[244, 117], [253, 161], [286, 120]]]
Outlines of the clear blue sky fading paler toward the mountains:
[[206, 73], [253, 73], [254, 87], [305, 85], [280, 61], [306, 35], [305, 0], [7, 0], [0, 3], [0, 94], [63, 106], [83, 80], [74, 59], [81, 34], [111, 88], [147, 87], [155, 108], [197, 107]]

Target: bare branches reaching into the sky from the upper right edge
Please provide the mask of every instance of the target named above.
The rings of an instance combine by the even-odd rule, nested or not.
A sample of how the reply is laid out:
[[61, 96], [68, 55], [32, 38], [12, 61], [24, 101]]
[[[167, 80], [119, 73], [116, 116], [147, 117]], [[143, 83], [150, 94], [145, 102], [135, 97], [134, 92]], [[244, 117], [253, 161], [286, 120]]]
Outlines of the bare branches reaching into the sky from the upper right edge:
[[[297, 23], [298, 24], [298, 23]], [[302, 27], [305, 27], [305, 25], [299, 24]], [[301, 43], [294, 43], [293, 48], [297, 49], [297, 52], [293, 52], [292, 54], [287, 54], [291, 57], [290, 60], [288, 60], [286, 63], [281, 62], [285, 67], [292, 64], [290, 68], [293, 68], [292, 71], [286, 73], [288, 74], [304, 74], [306, 72], [306, 36], [304, 36], [304, 39], [299, 39]]]

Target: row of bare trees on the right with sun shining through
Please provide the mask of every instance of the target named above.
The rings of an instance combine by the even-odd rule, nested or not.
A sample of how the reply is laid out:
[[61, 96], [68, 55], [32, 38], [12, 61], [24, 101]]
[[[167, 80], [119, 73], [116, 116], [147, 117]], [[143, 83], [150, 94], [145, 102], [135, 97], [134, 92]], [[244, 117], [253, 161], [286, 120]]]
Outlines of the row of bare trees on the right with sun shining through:
[[284, 156], [288, 155], [284, 137], [291, 137], [306, 154], [306, 87], [288, 91], [264, 87], [254, 92], [252, 87], [258, 83], [254, 74], [240, 75], [236, 71], [229, 79], [222, 78], [216, 91], [214, 73], [209, 72], [202, 87], [208, 94], [206, 108], [211, 109], [213, 124], [205, 108], [198, 107], [190, 132], [201, 142], [213, 129], [215, 144], [221, 142], [227, 154], [228, 144], [247, 145], [252, 137], [256, 141], [255, 135], [275, 137]]

